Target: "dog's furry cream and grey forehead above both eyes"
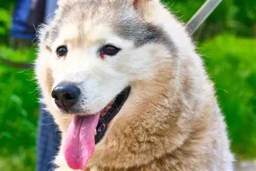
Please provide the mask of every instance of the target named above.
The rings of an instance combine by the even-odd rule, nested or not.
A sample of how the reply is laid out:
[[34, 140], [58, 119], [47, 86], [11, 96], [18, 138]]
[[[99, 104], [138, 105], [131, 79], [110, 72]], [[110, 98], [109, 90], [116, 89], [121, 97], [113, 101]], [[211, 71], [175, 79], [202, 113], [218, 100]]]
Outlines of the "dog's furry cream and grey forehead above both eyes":
[[[70, 1], [59, 8], [52, 41], [57, 37], [88, 42], [115, 34], [132, 40], [136, 47], [147, 42], [162, 41], [169, 44], [166, 33], [158, 26], [145, 23], [132, 5], [125, 1]], [[60, 36], [61, 34], [61, 36]], [[90, 38], [85, 37], [90, 35]]]

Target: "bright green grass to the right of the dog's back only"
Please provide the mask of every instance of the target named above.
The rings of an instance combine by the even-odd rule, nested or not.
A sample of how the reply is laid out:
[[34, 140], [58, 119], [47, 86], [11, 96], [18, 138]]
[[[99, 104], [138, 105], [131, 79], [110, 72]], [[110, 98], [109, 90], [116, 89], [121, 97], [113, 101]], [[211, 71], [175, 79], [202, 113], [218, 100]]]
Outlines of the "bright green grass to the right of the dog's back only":
[[209, 74], [226, 116], [232, 151], [256, 157], [256, 41], [223, 35], [202, 44]]

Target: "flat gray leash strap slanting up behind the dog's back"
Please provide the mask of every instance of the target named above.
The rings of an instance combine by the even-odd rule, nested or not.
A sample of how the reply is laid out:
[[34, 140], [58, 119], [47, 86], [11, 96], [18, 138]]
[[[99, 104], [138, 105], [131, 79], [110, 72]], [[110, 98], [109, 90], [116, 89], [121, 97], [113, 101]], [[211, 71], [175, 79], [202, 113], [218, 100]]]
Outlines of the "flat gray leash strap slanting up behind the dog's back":
[[222, 0], [207, 0], [187, 22], [186, 26], [194, 34], [205, 19], [216, 9]]

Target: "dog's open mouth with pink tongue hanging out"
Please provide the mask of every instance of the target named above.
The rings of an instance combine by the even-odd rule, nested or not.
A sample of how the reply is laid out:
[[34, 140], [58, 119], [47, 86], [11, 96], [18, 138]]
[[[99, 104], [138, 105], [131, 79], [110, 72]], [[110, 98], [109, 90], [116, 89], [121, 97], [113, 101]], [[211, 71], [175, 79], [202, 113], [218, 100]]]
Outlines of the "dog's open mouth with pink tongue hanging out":
[[109, 123], [120, 111], [130, 91], [131, 87], [126, 87], [101, 112], [94, 115], [73, 115], [63, 147], [70, 168], [83, 170], [86, 167], [95, 144], [104, 137]]

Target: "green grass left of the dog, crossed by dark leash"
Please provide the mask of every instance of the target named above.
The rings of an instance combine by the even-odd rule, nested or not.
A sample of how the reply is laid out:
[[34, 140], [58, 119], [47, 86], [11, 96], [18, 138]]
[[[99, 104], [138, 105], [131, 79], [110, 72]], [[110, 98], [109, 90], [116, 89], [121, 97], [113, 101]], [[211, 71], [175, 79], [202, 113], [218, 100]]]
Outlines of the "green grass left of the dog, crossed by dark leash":
[[[33, 50], [0, 47], [9, 59], [32, 61]], [[38, 104], [33, 71], [0, 65], [0, 170], [35, 170]], [[25, 169], [26, 168], [26, 169]]]

